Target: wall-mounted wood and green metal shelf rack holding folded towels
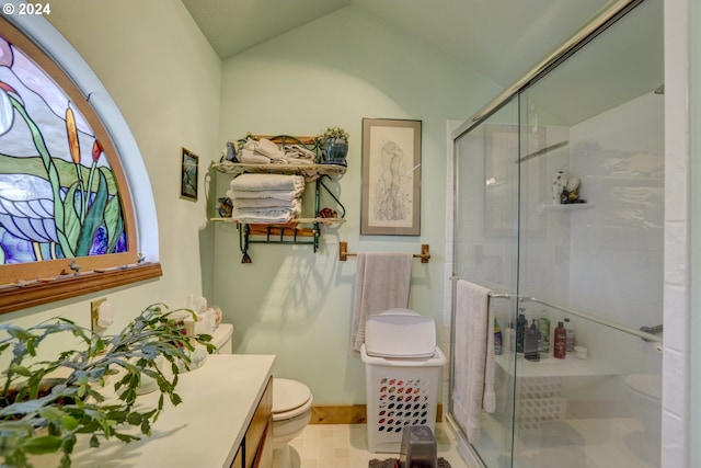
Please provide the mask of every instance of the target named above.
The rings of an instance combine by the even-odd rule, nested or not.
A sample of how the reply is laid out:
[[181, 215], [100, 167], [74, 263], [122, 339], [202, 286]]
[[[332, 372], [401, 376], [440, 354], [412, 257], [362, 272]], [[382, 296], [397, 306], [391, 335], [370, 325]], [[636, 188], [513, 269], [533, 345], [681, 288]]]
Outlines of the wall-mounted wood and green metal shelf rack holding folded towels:
[[[313, 139], [311, 137], [262, 137], [268, 138], [278, 145], [285, 145], [285, 141], [295, 140], [302, 145], [310, 145]], [[311, 217], [296, 218], [287, 224], [246, 224], [238, 221], [231, 217], [216, 217], [211, 221], [233, 222], [239, 230], [239, 246], [243, 253], [242, 263], [251, 263], [249, 256], [249, 247], [252, 243], [295, 243], [311, 244], [314, 252], [319, 249], [319, 239], [322, 227], [333, 227], [345, 222], [345, 207], [333, 193], [333, 191], [324, 183], [325, 180], [331, 181], [332, 176], [340, 176], [346, 172], [345, 165], [337, 164], [250, 164], [231, 161], [222, 161], [211, 164], [211, 168], [220, 173], [229, 174], [235, 178], [243, 173], [269, 173], [269, 174], [287, 174], [302, 175], [307, 183], [307, 192], [309, 189], [314, 191], [314, 207]], [[335, 206], [324, 209], [321, 205], [322, 196], [330, 196]], [[333, 215], [329, 215], [329, 212]], [[336, 212], [337, 210], [337, 212]]]

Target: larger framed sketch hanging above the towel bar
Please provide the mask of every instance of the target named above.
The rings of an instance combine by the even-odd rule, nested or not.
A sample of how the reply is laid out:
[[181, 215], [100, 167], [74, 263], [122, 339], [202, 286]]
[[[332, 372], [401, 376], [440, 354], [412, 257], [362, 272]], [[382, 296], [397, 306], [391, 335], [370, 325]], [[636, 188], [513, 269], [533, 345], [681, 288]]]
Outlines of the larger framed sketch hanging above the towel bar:
[[421, 124], [363, 119], [361, 235], [421, 235]]

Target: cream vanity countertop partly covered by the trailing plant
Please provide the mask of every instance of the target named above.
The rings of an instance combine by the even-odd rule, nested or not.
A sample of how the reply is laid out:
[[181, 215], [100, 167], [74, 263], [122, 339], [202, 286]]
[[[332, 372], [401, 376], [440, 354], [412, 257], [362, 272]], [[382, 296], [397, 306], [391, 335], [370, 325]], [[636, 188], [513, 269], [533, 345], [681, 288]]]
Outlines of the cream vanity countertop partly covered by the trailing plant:
[[[90, 448], [88, 437], [81, 437], [72, 467], [229, 468], [272, 376], [274, 361], [273, 355], [209, 355], [204, 366], [180, 375], [175, 392], [183, 402], [172, 407], [166, 398], [150, 437], [129, 444], [101, 438], [97, 448]], [[143, 395], [139, 404], [156, 408], [159, 395]]]

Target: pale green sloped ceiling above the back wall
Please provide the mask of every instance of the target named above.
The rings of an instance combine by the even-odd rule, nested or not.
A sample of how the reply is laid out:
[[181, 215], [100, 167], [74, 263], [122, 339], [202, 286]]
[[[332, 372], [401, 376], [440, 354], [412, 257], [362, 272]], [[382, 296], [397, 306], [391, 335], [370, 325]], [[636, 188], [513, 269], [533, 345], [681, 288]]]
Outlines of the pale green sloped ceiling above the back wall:
[[182, 0], [226, 59], [352, 7], [507, 87], [608, 0]]

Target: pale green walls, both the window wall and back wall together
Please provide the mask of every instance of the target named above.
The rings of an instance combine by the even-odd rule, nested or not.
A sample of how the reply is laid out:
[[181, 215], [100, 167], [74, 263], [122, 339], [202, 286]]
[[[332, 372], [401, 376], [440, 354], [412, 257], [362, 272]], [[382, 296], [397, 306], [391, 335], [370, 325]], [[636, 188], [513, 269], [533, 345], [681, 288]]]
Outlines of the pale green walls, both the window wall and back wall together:
[[[88, 326], [90, 300], [106, 296], [116, 329], [151, 303], [182, 307], [187, 295], [205, 295], [235, 324], [237, 352], [277, 354], [276, 375], [308, 384], [317, 404], [360, 403], [364, 366], [348, 351], [356, 262], [337, 261], [338, 241], [353, 252], [417, 253], [429, 243], [430, 263], [413, 267], [411, 307], [434, 316], [441, 333], [447, 121], [472, 115], [497, 84], [354, 8], [223, 62], [179, 1], [56, 0], [49, 21], [104, 83], [137, 140], [158, 210], [163, 277], [2, 320], [33, 324], [61, 315]], [[421, 237], [359, 236], [364, 117], [423, 122]], [[331, 125], [350, 133], [348, 172], [334, 185], [347, 222], [324, 230], [315, 254], [256, 244], [254, 263], [242, 265], [235, 229], [208, 221], [228, 183], [207, 173], [209, 163], [246, 132], [313, 135]], [[196, 203], [179, 197], [181, 147], [200, 157]]]

